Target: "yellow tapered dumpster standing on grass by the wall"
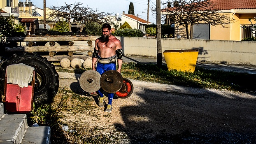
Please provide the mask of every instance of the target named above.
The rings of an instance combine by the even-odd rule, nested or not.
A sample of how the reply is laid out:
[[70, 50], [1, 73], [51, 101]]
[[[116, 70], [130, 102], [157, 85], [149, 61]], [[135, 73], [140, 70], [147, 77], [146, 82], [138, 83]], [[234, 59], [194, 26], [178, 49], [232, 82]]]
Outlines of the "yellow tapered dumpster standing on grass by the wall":
[[163, 51], [168, 70], [195, 71], [198, 49]]

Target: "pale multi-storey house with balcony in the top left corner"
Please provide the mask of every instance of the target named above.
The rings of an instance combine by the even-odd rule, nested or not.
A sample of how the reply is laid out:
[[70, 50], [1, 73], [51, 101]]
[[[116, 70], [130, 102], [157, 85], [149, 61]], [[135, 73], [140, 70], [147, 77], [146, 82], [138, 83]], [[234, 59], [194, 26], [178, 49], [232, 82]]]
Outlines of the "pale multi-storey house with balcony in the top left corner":
[[13, 16], [15, 23], [19, 23], [19, 6], [18, 0], [1, 0], [1, 15], [4, 17]]

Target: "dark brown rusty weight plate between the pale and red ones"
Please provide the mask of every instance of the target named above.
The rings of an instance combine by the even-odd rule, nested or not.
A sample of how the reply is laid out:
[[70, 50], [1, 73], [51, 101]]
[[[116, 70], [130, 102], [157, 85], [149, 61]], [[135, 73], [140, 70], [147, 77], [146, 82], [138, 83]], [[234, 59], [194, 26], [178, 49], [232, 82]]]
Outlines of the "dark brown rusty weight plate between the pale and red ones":
[[100, 86], [107, 93], [116, 93], [123, 86], [123, 77], [116, 70], [108, 70], [101, 75]]

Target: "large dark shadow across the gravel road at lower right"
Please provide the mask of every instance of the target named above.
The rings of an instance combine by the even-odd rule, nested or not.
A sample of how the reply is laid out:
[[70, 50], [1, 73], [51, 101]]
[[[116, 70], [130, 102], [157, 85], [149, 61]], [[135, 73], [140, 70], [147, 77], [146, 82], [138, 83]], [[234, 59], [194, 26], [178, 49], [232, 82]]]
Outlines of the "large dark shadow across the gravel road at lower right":
[[256, 95], [189, 88], [144, 88], [137, 106], [121, 108], [133, 144], [256, 143]]

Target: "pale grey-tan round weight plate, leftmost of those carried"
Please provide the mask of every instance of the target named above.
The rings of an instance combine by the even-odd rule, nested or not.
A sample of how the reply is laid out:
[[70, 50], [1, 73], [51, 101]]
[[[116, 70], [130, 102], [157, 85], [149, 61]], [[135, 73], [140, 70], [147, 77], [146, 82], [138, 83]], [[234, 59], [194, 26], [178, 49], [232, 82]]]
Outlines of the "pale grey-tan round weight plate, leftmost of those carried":
[[88, 93], [98, 91], [100, 89], [100, 73], [95, 70], [86, 70], [81, 74], [79, 84]]

